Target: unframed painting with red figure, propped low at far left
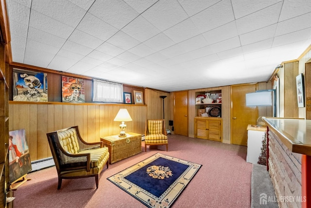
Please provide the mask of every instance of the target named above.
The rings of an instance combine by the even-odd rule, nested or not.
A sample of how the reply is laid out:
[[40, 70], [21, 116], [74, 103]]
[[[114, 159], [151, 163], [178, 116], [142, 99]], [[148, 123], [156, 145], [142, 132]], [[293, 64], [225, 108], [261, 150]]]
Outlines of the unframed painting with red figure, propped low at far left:
[[9, 132], [9, 170], [10, 184], [32, 170], [24, 129]]

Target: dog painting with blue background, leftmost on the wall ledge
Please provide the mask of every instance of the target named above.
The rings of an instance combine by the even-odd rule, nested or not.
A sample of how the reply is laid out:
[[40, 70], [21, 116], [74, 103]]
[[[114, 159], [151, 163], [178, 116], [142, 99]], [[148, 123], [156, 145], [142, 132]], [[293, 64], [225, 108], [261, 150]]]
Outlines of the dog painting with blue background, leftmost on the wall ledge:
[[13, 69], [13, 100], [48, 102], [47, 74]]

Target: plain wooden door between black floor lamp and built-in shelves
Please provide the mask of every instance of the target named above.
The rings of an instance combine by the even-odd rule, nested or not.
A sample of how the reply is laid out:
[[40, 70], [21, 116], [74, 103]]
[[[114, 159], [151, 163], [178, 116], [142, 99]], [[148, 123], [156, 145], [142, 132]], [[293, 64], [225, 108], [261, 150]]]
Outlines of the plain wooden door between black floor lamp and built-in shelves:
[[188, 136], [188, 91], [174, 93], [174, 134]]

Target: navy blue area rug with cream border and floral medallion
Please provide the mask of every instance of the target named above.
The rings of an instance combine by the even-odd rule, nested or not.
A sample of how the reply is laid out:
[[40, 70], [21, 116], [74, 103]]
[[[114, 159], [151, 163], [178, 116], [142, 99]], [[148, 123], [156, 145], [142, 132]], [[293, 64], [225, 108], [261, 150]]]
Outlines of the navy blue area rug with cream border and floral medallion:
[[147, 207], [169, 208], [200, 167], [200, 164], [156, 153], [107, 179]]

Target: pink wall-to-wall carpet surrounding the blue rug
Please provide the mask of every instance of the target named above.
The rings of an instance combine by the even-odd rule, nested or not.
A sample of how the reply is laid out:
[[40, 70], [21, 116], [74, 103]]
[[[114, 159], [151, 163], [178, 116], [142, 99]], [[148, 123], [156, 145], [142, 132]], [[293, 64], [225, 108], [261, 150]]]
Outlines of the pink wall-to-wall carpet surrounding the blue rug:
[[202, 167], [180, 194], [172, 208], [250, 208], [252, 164], [246, 163], [247, 148], [205, 139], [169, 135], [165, 146], [151, 146], [102, 171], [99, 188], [94, 178], [63, 180], [57, 190], [55, 167], [35, 171], [14, 191], [15, 208], [145, 208], [137, 199], [107, 180], [108, 177], [154, 155], [163, 153]]

